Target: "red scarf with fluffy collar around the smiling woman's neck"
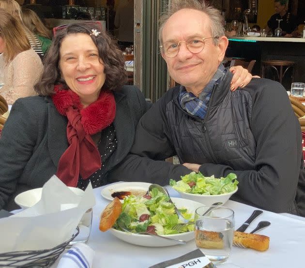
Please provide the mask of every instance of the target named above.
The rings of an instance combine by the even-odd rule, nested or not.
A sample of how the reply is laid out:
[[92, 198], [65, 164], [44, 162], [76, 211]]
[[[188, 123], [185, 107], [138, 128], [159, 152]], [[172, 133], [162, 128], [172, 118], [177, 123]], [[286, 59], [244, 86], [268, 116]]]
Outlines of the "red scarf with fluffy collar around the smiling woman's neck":
[[68, 119], [68, 149], [62, 154], [56, 175], [67, 185], [76, 187], [79, 174], [88, 179], [101, 168], [101, 156], [90, 135], [109, 124], [115, 117], [116, 104], [111, 91], [101, 91], [99, 98], [82, 108], [78, 95], [62, 86], [54, 86], [52, 96], [57, 111]]

